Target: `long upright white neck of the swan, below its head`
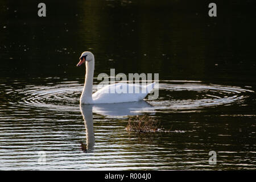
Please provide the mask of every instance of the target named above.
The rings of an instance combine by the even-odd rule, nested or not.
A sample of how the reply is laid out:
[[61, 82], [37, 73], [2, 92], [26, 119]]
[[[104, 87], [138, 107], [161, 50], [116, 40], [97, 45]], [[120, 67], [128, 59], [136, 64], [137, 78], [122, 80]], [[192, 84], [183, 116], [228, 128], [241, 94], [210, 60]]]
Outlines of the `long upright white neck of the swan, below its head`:
[[86, 74], [84, 89], [80, 97], [81, 104], [93, 104], [92, 100], [92, 86], [93, 86], [93, 73], [94, 73], [94, 58], [91, 61], [86, 61]]

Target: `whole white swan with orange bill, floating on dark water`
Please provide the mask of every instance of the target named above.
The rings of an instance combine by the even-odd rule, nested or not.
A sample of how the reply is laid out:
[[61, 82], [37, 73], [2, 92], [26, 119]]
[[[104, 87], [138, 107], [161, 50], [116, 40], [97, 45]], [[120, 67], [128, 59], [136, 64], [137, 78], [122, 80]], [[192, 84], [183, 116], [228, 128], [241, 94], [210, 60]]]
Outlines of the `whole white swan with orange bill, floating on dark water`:
[[[148, 93], [154, 88], [155, 82], [148, 85], [139, 84], [126, 84], [119, 82], [117, 84], [111, 84], [104, 86], [97, 92], [92, 94], [93, 87], [93, 72], [94, 72], [94, 55], [92, 52], [85, 51], [80, 56], [80, 61], [77, 64], [79, 67], [81, 64], [85, 63], [86, 74], [84, 89], [80, 97], [81, 104], [111, 104], [118, 102], [134, 102], [142, 100], [147, 96]], [[126, 93], [119, 92], [118, 90], [126, 89]], [[114, 90], [114, 93], [113, 93]], [[129, 93], [133, 90], [133, 93]], [[137, 93], [135, 90], [139, 90]], [[144, 91], [144, 92], [141, 92]]]

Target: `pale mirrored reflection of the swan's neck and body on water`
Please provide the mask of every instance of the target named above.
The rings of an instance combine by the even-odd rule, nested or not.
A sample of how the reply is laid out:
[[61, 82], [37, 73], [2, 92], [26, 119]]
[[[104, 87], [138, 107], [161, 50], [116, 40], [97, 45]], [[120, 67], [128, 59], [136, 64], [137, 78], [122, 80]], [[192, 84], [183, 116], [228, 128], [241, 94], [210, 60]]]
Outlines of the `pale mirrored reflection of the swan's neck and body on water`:
[[86, 130], [86, 145], [81, 143], [82, 150], [85, 152], [93, 152], [94, 150], [94, 131], [93, 131], [93, 112], [106, 116], [125, 116], [139, 115], [145, 111], [152, 111], [152, 106], [146, 101], [125, 102], [117, 104], [95, 104], [83, 105], [80, 104], [80, 111], [84, 118]]

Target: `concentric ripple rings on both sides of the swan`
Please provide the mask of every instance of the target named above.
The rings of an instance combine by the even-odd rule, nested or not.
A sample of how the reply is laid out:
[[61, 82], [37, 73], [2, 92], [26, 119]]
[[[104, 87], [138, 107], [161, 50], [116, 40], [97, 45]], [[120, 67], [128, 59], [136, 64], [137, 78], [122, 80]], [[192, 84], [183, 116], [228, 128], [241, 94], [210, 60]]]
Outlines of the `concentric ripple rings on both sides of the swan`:
[[[18, 103], [25, 107], [43, 107], [48, 110], [78, 111], [83, 85], [78, 81], [63, 81], [52, 85], [26, 85], [25, 88], [11, 90], [18, 94]], [[97, 89], [94, 83], [93, 92]], [[160, 81], [159, 98], [148, 100], [156, 110], [193, 110], [203, 107], [228, 105], [243, 101], [254, 92], [234, 86], [207, 85], [200, 81]]]

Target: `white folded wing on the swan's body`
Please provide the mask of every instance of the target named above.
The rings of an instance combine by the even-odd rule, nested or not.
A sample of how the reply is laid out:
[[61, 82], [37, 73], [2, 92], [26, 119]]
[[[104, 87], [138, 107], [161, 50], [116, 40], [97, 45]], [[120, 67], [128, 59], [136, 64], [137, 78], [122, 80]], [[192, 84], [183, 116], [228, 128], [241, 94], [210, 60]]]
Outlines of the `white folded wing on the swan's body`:
[[148, 85], [117, 83], [104, 86], [92, 98], [95, 104], [133, 102], [142, 100], [151, 90]]

